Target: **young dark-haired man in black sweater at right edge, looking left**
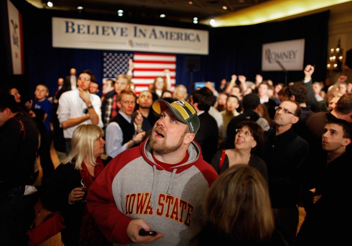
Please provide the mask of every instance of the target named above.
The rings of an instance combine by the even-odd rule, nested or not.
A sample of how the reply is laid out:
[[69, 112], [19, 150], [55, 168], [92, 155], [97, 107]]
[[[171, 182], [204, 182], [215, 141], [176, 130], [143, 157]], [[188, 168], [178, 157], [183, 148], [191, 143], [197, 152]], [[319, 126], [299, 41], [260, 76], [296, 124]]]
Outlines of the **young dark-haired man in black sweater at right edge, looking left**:
[[331, 119], [324, 127], [322, 149], [327, 152], [326, 166], [321, 181], [310, 190], [310, 209], [307, 211], [298, 244], [344, 244], [350, 237], [345, 224], [351, 217], [351, 204], [344, 200], [351, 186], [351, 139], [352, 126], [342, 119]]

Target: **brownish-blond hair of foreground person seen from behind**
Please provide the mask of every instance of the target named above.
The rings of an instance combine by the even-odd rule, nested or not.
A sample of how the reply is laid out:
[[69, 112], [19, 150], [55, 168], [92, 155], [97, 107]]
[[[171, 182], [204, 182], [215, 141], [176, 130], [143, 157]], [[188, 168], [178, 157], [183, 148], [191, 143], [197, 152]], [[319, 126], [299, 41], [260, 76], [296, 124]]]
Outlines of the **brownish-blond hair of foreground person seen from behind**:
[[239, 241], [267, 241], [274, 232], [268, 185], [254, 168], [238, 164], [223, 172], [209, 189], [206, 221], [219, 235]]

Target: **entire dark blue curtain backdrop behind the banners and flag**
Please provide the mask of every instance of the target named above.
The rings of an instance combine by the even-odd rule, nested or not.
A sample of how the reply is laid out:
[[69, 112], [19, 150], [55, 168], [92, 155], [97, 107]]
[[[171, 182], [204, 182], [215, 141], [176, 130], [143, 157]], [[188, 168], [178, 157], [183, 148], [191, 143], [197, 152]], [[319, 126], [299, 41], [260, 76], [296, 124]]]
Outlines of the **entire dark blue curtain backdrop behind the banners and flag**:
[[[200, 57], [200, 71], [193, 73], [193, 82], [213, 81], [219, 84], [222, 78], [230, 80], [232, 74], [245, 75], [247, 80], [254, 80], [258, 73], [264, 79], [271, 78], [274, 83], [283, 82], [283, 72], [261, 71], [262, 44], [300, 38], [306, 40], [304, 65], [316, 65], [313, 79], [320, 81], [326, 76], [328, 12], [282, 22], [209, 28], [182, 23], [161, 23], [159, 20], [117, 19], [107, 15], [79, 16], [73, 12], [38, 10], [25, 1], [13, 1], [23, 13], [25, 75], [21, 78], [21, 85], [23, 90], [27, 88], [26, 92], [22, 91], [26, 94], [24, 97], [33, 98], [34, 88], [38, 83], [47, 84], [52, 96], [57, 87], [57, 79], [67, 76], [71, 67], [75, 67], [77, 72], [91, 69], [96, 81], [102, 80], [102, 50], [52, 48], [52, 16], [209, 29], [208, 56], [176, 56], [176, 84], [185, 85], [189, 91], [193, 85], [190, 84], [190, 72], [185, 69], [186, 57]], [[301, 80], [302, 77], [302, 71], [288, 73], [288, 81]]]

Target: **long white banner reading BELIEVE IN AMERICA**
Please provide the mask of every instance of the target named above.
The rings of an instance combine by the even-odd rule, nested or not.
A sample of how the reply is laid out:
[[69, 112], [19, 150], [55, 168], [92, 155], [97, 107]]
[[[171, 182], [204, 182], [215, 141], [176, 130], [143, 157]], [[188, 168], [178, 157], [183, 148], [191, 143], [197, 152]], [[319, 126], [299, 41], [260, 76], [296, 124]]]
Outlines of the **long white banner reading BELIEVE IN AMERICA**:
[[52, 18], [52, 46], [208, 55], [208, 31]]

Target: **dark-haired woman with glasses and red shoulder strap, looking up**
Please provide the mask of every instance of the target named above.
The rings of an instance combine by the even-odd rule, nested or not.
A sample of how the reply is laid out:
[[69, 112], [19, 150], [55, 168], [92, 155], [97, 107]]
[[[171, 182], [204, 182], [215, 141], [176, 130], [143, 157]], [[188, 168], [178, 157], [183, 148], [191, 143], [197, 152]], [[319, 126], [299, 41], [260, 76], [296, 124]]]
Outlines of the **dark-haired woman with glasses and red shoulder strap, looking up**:
[[220, 150], [212, 159], [211, 165], [218, 174], [236, 164], [247, 164], [257, 169], [268, 181], [265, 162], [253, 152], [264, 140], [264, 132], [256, 122], [245, 120], [237, 125], [235, 149]]

